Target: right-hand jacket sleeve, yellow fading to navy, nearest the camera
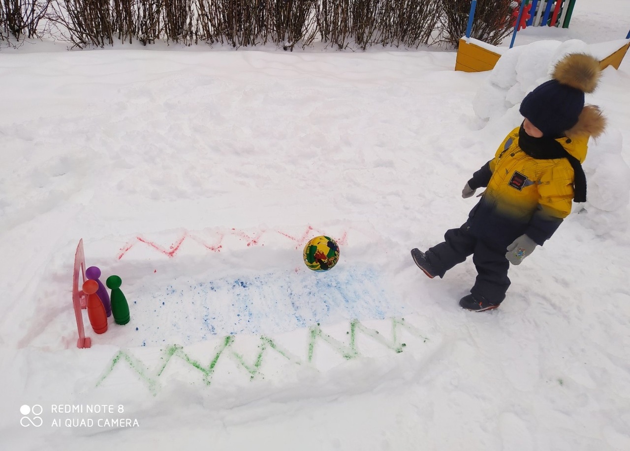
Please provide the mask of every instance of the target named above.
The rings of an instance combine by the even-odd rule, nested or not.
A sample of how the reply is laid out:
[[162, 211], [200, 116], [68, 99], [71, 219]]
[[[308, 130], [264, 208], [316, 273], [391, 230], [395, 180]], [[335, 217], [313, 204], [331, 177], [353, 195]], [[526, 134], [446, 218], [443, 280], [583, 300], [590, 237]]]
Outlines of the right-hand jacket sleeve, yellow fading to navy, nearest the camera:
[[571, 213], [573, 169], [565, 162], [561, 160], [561, 163], [541, 174], [538, 208], [525, 231], [525, 235], [541, 246]]

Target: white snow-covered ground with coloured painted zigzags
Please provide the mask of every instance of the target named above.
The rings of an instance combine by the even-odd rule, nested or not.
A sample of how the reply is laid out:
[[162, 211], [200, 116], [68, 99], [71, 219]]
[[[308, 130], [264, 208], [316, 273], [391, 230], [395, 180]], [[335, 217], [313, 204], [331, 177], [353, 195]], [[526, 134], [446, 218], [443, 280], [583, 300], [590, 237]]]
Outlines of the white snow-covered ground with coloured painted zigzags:
[[[435, 50], [0, 50], [0, 450], [630, 449], [630, 57], [587, 98], [589, 201], [500, 309], [457, 305], [472, 262], [430, 280], [409, 254], [466, 219], [553, 62], [629, 26], [579, 0], [479, 74]], [[324, 234], [341, 259], [312, 272]], [[81, 238], [131, 314], [97, 335], [83, 311], [89, 349]]]

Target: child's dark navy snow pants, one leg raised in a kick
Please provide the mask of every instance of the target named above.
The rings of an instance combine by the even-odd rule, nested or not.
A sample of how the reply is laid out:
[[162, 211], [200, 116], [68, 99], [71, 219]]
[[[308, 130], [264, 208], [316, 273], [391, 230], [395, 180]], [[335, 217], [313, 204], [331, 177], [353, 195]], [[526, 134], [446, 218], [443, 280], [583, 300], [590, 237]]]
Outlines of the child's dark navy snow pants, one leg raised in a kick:
[[510, 286], [508, 279], [510, 262], [505, 258], [506, 252], [505, 248], [479, 240], [471, 233], [466, 223], [460, 228], [447, 230], [444, 242], [427, 250], [426, 255], [440, 277], [444, 277], [447, 270], [473, 255], [477, 278], [471, 293], [473, 296], [481, 296], [493, 304], [498, 304], [505, 299], [505, 292]]

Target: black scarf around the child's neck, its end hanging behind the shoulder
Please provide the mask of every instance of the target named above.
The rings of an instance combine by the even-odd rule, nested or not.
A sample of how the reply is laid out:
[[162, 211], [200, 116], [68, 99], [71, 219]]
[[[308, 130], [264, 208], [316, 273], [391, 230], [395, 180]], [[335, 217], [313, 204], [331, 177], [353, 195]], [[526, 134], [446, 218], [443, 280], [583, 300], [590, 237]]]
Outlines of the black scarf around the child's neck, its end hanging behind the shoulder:
[[573, 173], [575, 174], [575, 181], [573, 182], [573, 191], [575, 195], [573, 200], [575, 202], [586, 202], [587, 200], [587, 176], [584, 174], [580, 160], [576, 159], [562, 146], [561, 143], [554, 138], [534, 138], [527, 135], [523, 125], [520, 125], [518, 131], [518, 147], [522, 148], [523, 152], [527, 153], [532, 158], [537, 160], [551, 160], [556, 158], [566, 158], [569, 160]]

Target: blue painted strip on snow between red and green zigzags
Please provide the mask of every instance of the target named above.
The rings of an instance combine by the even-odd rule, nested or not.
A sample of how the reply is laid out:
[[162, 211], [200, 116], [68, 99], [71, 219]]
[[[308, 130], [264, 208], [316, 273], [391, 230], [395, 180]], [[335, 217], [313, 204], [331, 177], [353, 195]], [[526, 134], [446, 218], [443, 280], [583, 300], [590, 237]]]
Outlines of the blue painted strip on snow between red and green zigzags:
[[147, 342], [212, 335], [272, 334], [348, 319], [401, 315], [374, 267], [330, 272], [270, 272], [211, 281], [173, 281], [139, 301], [135, 318]]

